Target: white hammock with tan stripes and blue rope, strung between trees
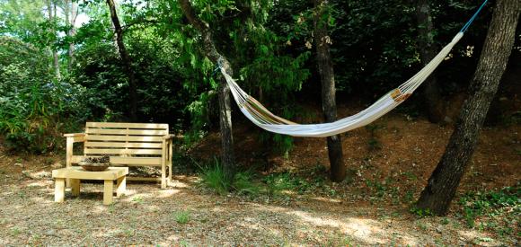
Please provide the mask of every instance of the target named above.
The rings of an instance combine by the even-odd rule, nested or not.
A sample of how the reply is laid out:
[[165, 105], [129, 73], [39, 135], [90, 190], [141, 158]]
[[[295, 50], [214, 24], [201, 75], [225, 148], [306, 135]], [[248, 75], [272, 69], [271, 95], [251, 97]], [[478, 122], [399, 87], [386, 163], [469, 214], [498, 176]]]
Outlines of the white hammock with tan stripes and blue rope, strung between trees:
[[487, 3], [487, 0], [481, 4], [481, 7], [472, 18], [467, 22], [461, 31], [459, 31], [454, 39], [443, 48], [436, 57], [434, 57], [427, 66], [423, 67], [416, 75], [413, 75], [411, 79], [407, 80], [404, 84], [401, 84], [396, 89], [393, 89], [389, 93], [384, 94], [378, 101], [375, 101], [371, 106], [362, 110], [355, 115], [349, 116], [344, 119], [339, 119], [330, 123], [321, 124], [297, 124], [287, 119], [278, 117], [271, 113], [262, 104], [255, 100], [251, 95], [245, 93], [237, 83], [235, 83], [232, 76], [226, 74], [224, 68], [221, 69], [221, 73], [225, 76], [226, 83], [231, 89], [234, 95], [234, 100], [239, 106], [239, 109], [243, 111], [244, 116], [250, 119], [255, 125], [260, 128], [264, 128], [270, 132], [284, 134], [294, 137], [330, 137], [354, 128], [360, 128], [370, 124], [382, 117], [385, 113], [393, 110], [395, 107], [400, 105], [403, 101], [407, 100], [411, 93], [419, 87], [420, 84], [425, 82], [428, 75], [431, 75], [433, 71], [443, 62], [445, 57], [450, 53], [451, 49], [454, 48], [455, 44], [462, 39], [464, 31], [466, 31], [470, 24], [474, 21], [481, 8]]

